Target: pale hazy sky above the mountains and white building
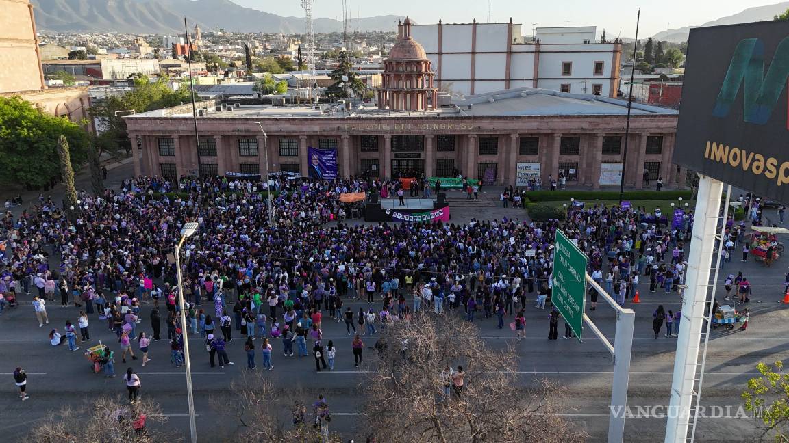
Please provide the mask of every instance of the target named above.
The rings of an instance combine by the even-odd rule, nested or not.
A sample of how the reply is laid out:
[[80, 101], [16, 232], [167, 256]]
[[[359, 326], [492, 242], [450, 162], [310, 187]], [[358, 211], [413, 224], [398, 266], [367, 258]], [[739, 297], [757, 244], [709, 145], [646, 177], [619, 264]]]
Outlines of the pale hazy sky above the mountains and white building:
[[[302, 17], [299, 0], [232, 0], [241, 6], [264, 10], [285, 17]], [[609, 37], [634, 37], [636, 12], [641, 7], [639, 36], [654, 35], [667, 26], [672, 29], [698, 25], [705, 21], [739, 13], [753, 6], [772, 5], [780, 0], [690, 0], [685, 2], [639, 2], [632, 0], [491, 0], [491, 21], [514, 20], [523, 24], [523, 32], [531, 33], [533, 23], [539, 26], [596, 25], [598, 33], [606, 30]], [[342, 18], [342, 0], [315, 0], [314, 17]], [[487, 0], [348, 0], [351, 18], [395, 14], [409, 15], [418, 23], [484, 22], [488, 15]]]

